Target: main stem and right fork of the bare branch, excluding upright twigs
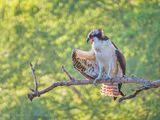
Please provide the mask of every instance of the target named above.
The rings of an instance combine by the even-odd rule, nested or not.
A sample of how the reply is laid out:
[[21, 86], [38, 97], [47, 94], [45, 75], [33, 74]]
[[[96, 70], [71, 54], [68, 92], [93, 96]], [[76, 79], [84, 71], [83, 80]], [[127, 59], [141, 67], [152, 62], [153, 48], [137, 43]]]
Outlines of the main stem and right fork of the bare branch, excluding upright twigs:
[[[126, 100], [126, 99], [130, 99], [135, 97], [139, 92], [143, 91], [143, 90], [147, 90], [147, 89], [151, 89], [151, 88], [156, 88], [156, 87], [160, 87], [160, 80], [156, 80], [156, 81], [149, 81], [149, 80], [145, 80], [142, 78], [137, 78], [137, 77], [117, 77], [117, 78], [112, 78], [110, 80], [101, 80], [101, 81], [97, 81], [97, 84], [102, 84], [102, 83], [137, 83], [137, 84], [142, 84], [142, 85], [146, 85], [147, 83], [147, 87], [142, 87], [140, 90], [137, 90], [137, 92], [135, 92], [133, 95], [130, 96], [125, 96], [120, 98], [119, 102]], [[149, 84], [148, 84], [149, 83]], [[50, 90], [58, 87], [58, 86], [71, 86], [71, 85], [88, 85], [88, 84], [93, 84], [93, 81], [91, 80], [74, 80], [74, 81], [59, 81], [59, 82], [55, 82], [53, 84], [51, 84], [49, 87], [38, 91], [39, 95], [45, 94], [47, 92], [49, 92]], [[28, 94], [28, 98], [32, 101], [33, 98], [37, 97], [37, 93], [33, 92], [33, 93], [29, 93]]]

